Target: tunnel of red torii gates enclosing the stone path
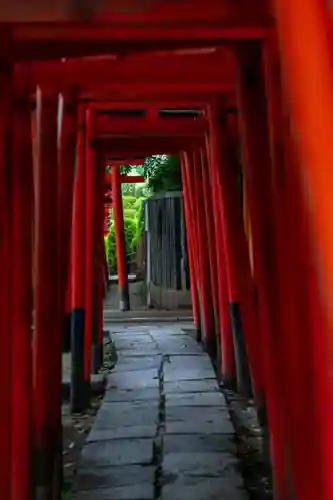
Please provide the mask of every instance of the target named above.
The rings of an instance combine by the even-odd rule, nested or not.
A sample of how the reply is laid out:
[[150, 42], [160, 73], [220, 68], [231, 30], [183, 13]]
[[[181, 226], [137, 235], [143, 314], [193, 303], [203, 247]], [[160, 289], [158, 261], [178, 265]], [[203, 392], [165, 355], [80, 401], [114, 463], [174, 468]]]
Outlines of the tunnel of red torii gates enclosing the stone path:
[[62, 334], [70, 314], [80, 409], [106, 165], [126, 309], [119, 165], [177, 154], [198, 339], [254, 395], [274, 499], [333, 500], [332, 4], [82, 5], [0, 3], [0, 498], [61, 498]]

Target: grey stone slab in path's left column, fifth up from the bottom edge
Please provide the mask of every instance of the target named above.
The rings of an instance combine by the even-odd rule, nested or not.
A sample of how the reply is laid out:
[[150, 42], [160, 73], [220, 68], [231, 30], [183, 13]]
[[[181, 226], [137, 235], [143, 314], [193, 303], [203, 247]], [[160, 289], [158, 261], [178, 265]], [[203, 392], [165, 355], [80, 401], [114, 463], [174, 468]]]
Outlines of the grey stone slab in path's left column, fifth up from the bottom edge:
[[115, 425], [153, 425], [158, 421], [157, 401], [131, 401], [104, 403], [94, 422], [95, 429], [107, 429]]

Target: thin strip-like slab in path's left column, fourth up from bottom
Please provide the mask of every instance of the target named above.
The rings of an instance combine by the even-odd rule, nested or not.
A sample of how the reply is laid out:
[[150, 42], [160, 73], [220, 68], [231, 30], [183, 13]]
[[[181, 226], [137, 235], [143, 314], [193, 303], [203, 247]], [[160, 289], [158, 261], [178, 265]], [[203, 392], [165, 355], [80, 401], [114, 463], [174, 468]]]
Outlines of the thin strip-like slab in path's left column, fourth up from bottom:
[[87, 437], [87, 443], [94, 441], [111, 441], [112, 439], [153, 438], [156, 435], [156, 424], [136, 426], [113, 426], [107, 429], [93, 427]]

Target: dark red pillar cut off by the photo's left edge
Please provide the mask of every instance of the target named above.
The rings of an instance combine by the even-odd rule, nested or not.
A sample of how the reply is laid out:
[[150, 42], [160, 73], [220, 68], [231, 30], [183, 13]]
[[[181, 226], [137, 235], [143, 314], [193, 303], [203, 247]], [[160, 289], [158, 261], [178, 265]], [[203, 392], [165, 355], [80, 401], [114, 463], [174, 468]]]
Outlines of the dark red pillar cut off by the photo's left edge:
[[12, 305], [11, 272], [12, 242], [11, 236], [11, 104], [12, 104], [12, 68], [0, 70], [0, 331], [1, 331], [1, 391], [0, 401], [3, 411], [0, 416], [2, 435], [3, 463], [0, 469], [0, 491], [4, 498], [11, 498], [11, 433], [12, 433]]

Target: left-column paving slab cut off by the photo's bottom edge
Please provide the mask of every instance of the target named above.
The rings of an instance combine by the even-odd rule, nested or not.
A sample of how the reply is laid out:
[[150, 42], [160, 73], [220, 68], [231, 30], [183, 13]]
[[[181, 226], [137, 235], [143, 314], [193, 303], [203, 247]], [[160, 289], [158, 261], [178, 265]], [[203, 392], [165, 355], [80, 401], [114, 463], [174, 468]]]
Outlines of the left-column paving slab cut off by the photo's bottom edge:
[[154, 487], [150, 483], [133, 486], [101, 488], [91, 491], [78, 491], [75, 500], [153, 500]]

